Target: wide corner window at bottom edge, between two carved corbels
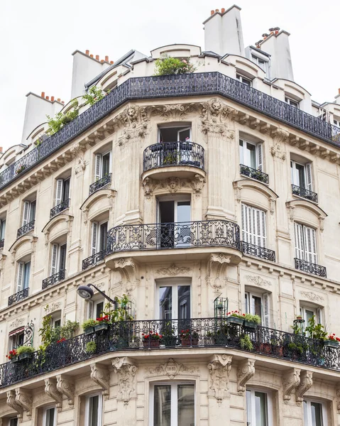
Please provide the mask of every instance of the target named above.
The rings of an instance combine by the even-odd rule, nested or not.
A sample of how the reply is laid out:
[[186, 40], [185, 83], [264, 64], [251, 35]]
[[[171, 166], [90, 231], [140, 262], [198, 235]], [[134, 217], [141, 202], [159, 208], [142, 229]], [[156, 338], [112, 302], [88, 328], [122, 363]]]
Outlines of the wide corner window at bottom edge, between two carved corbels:
[[159, 383], [150, 389], [150, 426], [194, 426], [194, 384]]

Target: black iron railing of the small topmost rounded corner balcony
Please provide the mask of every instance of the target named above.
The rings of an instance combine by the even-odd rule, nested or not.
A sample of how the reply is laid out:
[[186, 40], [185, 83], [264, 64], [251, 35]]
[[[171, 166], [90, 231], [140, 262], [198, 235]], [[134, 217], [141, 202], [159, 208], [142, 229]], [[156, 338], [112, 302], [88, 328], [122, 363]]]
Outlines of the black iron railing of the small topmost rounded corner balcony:
[[144, 150], [144, 171], [170, 165], [192, 165], [204, 170], [204, 148], [193, 142], [160, 142]]

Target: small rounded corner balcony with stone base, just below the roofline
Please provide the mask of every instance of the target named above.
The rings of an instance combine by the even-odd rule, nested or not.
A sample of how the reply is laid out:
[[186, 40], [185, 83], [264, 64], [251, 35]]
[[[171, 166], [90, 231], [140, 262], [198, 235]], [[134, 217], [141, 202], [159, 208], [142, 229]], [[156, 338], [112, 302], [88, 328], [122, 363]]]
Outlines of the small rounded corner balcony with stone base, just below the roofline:
[[[197, 170], [198, 169], [198, 170]], [[204, 148], [194, 142], [160, 142], [148, 146], [143, 153], [143, 176], [145, 179], [190, 178], [204, 171]]]

